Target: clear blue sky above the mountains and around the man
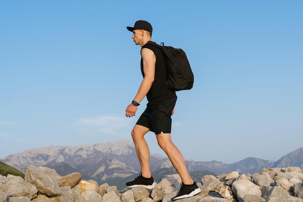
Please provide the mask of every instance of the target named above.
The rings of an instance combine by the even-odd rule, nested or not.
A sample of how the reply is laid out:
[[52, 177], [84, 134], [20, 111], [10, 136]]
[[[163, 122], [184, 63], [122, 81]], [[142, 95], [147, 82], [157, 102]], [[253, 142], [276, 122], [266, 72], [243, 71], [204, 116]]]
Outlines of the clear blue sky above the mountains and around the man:
[[[278, 160], [303, 144], [303, 1], [1, 1], [0, 158], [131, 140], [142, 76], [126, 26], [181, 47], [195, 75], [172, 138], [186, 159]], [[159, 149], [154, 134], [146, 139]]]

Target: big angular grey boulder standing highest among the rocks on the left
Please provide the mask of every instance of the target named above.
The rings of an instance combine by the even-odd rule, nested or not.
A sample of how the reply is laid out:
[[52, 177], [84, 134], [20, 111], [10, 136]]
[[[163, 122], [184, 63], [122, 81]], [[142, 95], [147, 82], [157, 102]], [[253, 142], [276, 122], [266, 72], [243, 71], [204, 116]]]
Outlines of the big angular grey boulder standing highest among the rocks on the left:
[[53, 169], [29, 165], [25, 172], [25, 180], [37, 187], [39, 193], [47, 196], [59, 196], [59, 175]]

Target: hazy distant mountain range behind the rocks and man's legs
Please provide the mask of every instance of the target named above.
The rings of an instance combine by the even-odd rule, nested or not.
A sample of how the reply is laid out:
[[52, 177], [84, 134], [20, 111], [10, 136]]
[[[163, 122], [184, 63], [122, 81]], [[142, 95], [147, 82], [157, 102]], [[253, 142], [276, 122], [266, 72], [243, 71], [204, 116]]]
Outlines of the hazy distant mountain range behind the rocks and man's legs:
[[[120, 190], [125, 187], [124, 182], [134, 179], [140, 171], [135, 146], [128, 140], [82, 146], [47, 146], [8, 155], [1, 160], [22, 172], [30, 164], [55, 169], [61, 176], [78, 171], [83, 174], [83, 179], [94, 179], [99, 185], [105, 182], [121, 185], [117, 186]], [[186, 165], [197, 182], [205, 174], [216, 175], [231, 171], [255, 173], [263, 168], [290, 166], [302, 169], [303, 147], [276, 162], [249, 157], [232, 164], [186, 160]], [[151, 154], [151, 169], [155, 180], [176, 173], [169, 159], [159, 154]]]

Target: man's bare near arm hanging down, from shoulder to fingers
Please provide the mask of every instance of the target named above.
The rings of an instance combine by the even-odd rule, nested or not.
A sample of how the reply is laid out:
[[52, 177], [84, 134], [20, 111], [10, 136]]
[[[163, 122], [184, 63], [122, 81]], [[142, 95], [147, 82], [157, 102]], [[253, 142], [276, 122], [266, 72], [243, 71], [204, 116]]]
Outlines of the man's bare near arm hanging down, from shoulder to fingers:
[[[140, 103], [145, 95], [149, 92], [149, 90], [152, 87], [152, 82], [154, 81], [155, 77], [155, 55], [151, 49], [143, 48], [141, 50], [141, 57], [143, 60], [143, 72], [144, 72], [144, 78], [141, 82], [140, 88], [134, 98], [135, 101]], [[135, 116], [136, 115], [137, 106], [134, 106], [133, 104], [130, 104], [126, 108], [125, 115], [128, 117]]]

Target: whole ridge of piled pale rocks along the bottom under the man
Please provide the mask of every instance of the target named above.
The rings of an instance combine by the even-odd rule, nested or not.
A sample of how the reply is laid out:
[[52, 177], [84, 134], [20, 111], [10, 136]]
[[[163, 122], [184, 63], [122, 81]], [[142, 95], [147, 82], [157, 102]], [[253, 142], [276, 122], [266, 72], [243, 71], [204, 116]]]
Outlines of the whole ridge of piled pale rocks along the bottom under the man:
[[[119, 191], [117, 186], [81, 180], [79, 172], [60, 176], [47, 167], [29, 165], [25, 179], [0, 175], [0, 202], [171, 202], [180, 189], [178, 174], [165, 175], [152, 189]], [[232, 171], [205, 175], [196, 196], [176, 202], [303, 202], [303, 173], [299, 167], [262, 169], [254, 174]]]

